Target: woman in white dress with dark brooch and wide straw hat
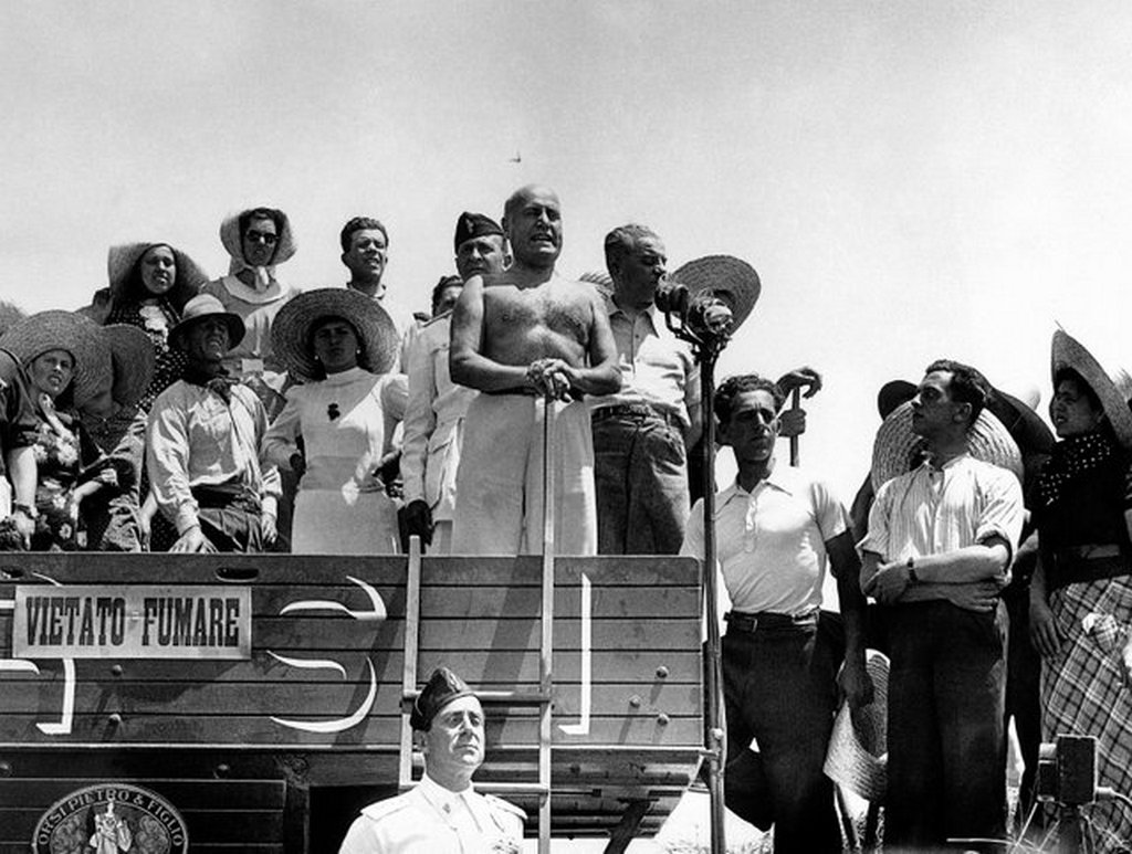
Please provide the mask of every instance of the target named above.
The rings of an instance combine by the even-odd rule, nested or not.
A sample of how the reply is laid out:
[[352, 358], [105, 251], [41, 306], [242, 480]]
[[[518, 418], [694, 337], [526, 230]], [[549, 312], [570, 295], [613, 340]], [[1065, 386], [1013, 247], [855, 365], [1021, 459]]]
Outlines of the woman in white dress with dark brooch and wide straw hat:
[[280, 310], [272, 346], [303, 383], [264, 440], [267, 457], [300, 476], [291, 551], [395, 553], [397, 508], [378, 476], [408, 397], [405, 378], [388, 372], [393, 321], [355, 291], [308, 291]]

